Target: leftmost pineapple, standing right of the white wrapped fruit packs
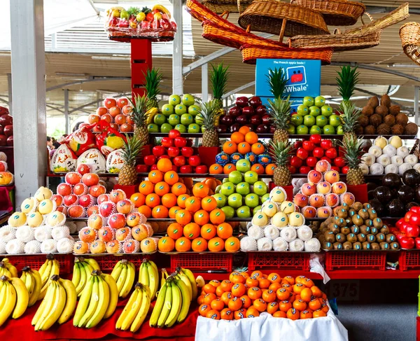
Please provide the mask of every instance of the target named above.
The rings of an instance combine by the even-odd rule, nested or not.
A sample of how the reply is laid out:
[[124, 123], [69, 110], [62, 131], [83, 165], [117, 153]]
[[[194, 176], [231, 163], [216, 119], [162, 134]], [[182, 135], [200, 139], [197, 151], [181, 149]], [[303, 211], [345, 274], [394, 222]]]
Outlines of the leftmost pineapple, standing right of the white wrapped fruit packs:
[[118, 184], [121, 186], [132, 186], [137, 182], [136, 172], [136, 158], [139, 155], [143, 144], [141, 140], [133, 135], [131, 138], [127, 137], [127, 142], [124, 141], [124, 148], [121, 157], [124, 160], [124, 165], [118, 174]]

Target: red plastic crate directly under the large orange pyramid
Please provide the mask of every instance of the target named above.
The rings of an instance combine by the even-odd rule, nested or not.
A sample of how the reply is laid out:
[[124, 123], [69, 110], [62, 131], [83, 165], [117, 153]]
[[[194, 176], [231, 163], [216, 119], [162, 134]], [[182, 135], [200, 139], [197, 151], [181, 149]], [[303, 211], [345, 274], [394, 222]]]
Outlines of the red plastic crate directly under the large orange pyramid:
[[191, 271], [226, 270], [232, 271], [232, 253], [172, 253], [171, 271], [176, 267], [186, 267]]

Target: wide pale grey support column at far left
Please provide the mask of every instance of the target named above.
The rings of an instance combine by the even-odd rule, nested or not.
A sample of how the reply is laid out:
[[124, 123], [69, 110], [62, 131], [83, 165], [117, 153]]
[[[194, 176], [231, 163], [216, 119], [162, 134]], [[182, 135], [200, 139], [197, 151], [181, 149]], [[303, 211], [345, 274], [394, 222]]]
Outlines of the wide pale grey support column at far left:
[[10, 32], [19, 205], [45, 185], [47, 172], [43, 0], [10, 0]]

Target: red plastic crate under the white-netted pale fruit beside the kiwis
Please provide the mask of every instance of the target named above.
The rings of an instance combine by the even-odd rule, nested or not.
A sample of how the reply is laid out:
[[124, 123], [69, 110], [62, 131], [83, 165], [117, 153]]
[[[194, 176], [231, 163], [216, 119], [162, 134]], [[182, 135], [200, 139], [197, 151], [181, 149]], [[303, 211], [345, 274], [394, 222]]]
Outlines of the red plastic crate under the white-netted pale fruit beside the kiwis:
[[309, 256], [304, 252], [248, 252], [248, 270], [309, 270]]

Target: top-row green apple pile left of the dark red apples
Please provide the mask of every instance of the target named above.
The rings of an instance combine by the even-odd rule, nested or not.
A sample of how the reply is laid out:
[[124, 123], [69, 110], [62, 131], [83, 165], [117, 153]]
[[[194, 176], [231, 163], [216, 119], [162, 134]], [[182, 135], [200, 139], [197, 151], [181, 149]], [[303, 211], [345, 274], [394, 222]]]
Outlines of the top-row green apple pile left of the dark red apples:
[[147, 126], [148, 132], [169, 132], [179, 130], [185, 132], [202, 132], [200, 106], [195, 104], [193, 95], [171, 95], [169, 103], [164, 104], [161, 113], [153, 117], [153, 123]]

